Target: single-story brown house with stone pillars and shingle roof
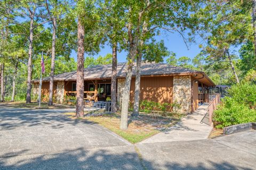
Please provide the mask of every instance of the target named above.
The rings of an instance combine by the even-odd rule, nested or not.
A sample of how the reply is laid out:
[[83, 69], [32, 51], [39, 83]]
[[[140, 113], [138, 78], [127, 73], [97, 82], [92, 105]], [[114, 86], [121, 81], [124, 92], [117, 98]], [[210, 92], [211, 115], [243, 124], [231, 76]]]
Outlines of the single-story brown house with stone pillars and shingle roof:
[[[132, 72], [130, 100], [135, 89], [135, 63]], [[111, 64], [84, 69], [84, 96], [95, 101], [111, 96]], [[117, 102], [122, 102], [126, 63], [117, 64]], [[43, 78], [42, 96], [49, 95], [50, 77]], [[209, 101], [207, 88], [215, 84], [202, 71], [194, 71], [165, 63], [145, 62], [141, 65], [140, 99], [158, 103], [180, 104], [180, 112], [194, 112], [198, 104]], [[33, 80], [33, 95], [38, 95], [39, 80]], [[63, 103], [65, 96], [76, 94], [76, 71], [54, 76], [54, 97]], [[97, 94], [97, 95], [94, 95]]]

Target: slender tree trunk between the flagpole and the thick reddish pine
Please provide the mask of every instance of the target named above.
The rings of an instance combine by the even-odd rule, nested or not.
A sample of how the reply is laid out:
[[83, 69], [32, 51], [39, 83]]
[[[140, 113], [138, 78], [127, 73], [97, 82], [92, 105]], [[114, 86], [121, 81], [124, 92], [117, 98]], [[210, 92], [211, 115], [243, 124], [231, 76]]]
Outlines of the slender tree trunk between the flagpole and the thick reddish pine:
[[53, 79], [54, 79], [54, 64], [55, 64], [55, 41], [56, 41], [56, 26], [57, 21], [56, 18], [52, 20], [53, 31], [52, 31], [52, 61], [51, 61], [51, 75], [50, 75], [50, 89], [49, 89], [49, 103], [48, 105], [52, 105], [52, 96], [53, 96]]

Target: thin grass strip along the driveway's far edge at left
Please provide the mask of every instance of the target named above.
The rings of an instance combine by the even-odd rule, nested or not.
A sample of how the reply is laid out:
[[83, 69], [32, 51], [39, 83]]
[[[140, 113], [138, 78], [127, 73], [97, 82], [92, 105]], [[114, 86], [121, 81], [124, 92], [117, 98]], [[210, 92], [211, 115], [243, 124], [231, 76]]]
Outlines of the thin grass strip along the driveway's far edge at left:
[[[37, 108], [39, 107], [39, 103], [38, 102], [32, 102], [29, 104], [26, 104], [26, 101], [14, 101], [14, 102], [10, 102], [10, 101], [4, 101], [3, 103], [0, 103], [0, 106], [6, 106], [6, 107], [14, 107], [14, 108]], [[75, 106], [71, 106], [71, 105], [53, 105], [53, 106], [48, 106], [48, 103], [41, 103], [41, 107], [45, 107], [48, 109], [53, 109], [53, 108], [70, 108], [73, 107], [75, 108]]]

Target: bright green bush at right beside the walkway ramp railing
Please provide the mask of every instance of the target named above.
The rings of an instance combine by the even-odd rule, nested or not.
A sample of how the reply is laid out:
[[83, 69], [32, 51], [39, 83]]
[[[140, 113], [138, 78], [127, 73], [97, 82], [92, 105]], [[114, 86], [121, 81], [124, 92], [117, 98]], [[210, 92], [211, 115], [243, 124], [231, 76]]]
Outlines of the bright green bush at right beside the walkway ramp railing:
[[214, 111], [217, 128], [256, 121], [256, 85], [235, 84], [228, 90], [218, 109]]

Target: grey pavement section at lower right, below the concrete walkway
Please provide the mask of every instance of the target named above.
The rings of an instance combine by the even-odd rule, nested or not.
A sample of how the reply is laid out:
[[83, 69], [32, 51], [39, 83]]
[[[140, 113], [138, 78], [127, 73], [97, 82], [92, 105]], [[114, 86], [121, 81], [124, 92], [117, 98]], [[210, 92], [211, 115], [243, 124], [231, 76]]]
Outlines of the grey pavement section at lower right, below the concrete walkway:
[[[137, 145], [147, 169], [256, 169], [256, 131]], [[159, 168], [161, 167], [161, 168]]]

